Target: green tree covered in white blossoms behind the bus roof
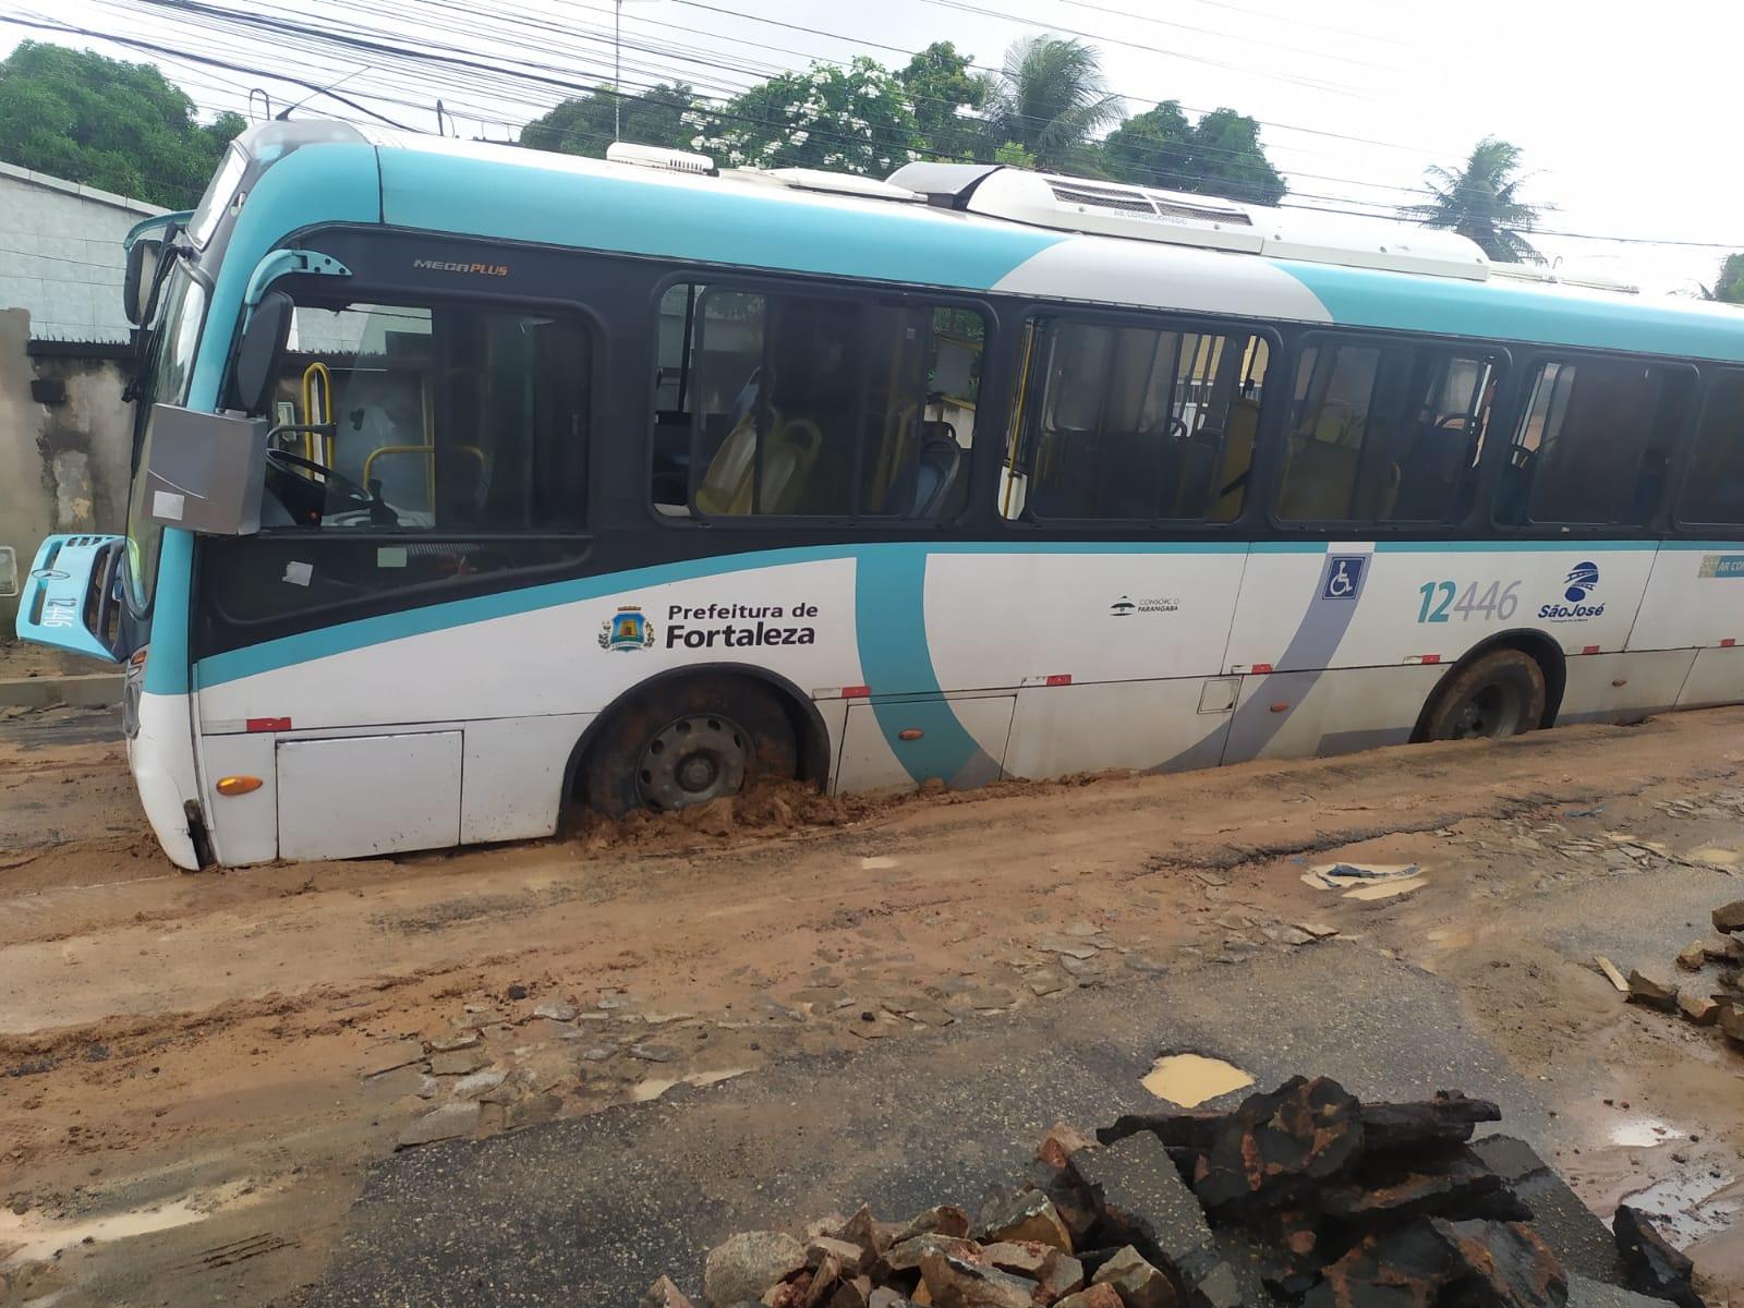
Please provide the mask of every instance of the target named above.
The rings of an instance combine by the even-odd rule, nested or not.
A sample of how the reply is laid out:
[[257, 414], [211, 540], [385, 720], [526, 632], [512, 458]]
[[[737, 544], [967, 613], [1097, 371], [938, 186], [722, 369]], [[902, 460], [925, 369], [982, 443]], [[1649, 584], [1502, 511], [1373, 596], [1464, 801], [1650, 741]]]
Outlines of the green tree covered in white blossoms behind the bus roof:
[[884, 176], [914, 159], [914, 112], [902, 84], [874, 59], [813, 65], [698, 113], [692, 150], [729, 167], [823, 167]]

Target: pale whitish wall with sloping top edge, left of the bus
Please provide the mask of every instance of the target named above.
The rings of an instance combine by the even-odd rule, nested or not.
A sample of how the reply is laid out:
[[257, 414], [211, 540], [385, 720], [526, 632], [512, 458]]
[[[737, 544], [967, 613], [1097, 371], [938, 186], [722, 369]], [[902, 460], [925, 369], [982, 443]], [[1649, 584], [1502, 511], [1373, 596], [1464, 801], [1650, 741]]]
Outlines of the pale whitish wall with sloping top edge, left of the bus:
[[45, 340], [127, 340], [120, 241], [157, 206], [0, 164], [0, 309]]

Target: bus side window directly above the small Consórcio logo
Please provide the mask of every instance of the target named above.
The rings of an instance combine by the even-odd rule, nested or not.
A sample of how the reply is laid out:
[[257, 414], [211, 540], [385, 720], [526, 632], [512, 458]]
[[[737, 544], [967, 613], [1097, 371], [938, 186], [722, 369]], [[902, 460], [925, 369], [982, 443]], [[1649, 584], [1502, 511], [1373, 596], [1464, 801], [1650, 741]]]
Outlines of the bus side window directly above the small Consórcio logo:
[[1247, 495], [1268, 358], [1257, 335], [1032, 319], [1001, 513], [1233, 520]]

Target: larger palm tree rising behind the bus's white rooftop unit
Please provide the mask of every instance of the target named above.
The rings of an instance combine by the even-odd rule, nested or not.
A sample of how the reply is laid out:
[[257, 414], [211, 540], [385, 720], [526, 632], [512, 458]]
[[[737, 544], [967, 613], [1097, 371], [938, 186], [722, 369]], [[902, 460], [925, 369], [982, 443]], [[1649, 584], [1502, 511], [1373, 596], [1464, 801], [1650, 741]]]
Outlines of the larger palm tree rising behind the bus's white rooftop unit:
[[1090, 138], [1120, 117], [1095, 47], [1046, 33], [1012, 42], [987, 103], [992, 140], [1055, 173], [1093, 171]]

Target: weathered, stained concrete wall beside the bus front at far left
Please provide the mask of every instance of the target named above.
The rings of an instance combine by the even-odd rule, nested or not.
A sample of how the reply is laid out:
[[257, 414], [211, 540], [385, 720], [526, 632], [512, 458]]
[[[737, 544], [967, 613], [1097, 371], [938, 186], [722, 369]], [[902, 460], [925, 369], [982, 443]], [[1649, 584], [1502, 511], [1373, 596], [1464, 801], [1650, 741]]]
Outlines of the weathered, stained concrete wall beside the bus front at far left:
[[[0, 309], [0, 549], [16, 551], [19, 581], [42, 537], [127, 521], [133, 405], [113, 354], [33, 344], [30, 314]], [[33, 384], [47, 384], [38, 392], [49, 403]], [[17, 598], [0, 596], [0, 633], [16, 614]]]

